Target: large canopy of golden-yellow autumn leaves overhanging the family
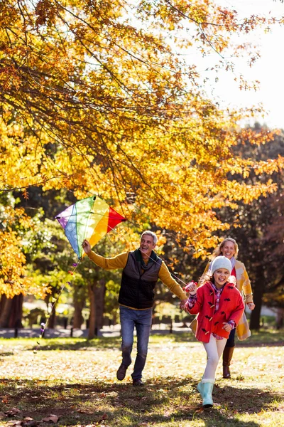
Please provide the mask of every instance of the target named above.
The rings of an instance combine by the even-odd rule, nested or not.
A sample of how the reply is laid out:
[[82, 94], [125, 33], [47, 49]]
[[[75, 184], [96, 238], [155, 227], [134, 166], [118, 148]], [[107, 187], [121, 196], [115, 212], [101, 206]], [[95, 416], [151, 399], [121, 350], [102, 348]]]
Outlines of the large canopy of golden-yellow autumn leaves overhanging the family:
[[[283, 168], [283, 158], [256, 163], [234, 154], [241, 139], [269, 143], [272, 132], [241, 130], [239, 120], [256, 110], [220, 110], [204, 95], [197, 64], [175, 53], [197, 46], [217, 55], [217, 68], [230, 70], [225, 53], [246, 48], [233, 48], [231, 34], [275, 23], [258, 16], [240, 21], [235, 11], [214, 6], [1, 2], [1, 190], [98, 194], [130, 223], [173, 230], [204, 254], [216, 243], [214, 232], [228, 227], [216, 211], [271, 193], [269, 176]], [[249, 61], [256, 56], [248, 53]], [[234, 179], [251, 172], [253, 184]], [[19, 249], [18, 236], [11, 236]], [[20, 277], [24, 260], [14, 259]]]

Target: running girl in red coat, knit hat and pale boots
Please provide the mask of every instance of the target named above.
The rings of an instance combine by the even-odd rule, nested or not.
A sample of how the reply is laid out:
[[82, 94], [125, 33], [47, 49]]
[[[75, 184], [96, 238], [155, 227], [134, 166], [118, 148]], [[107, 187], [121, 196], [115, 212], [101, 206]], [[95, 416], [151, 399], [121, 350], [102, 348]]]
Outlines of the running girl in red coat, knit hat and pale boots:
[[198, 314], [195, 336], [207, 352], [207, 365], [197, 385], [205, 408], [213, 406], [212, 390], [219, 358], [229, 333], [238, 325], [244, 312], [241, 293], [228, 282], [230, 273], [231, 261], [225, 256], [217, 256], [211, 270], [202, 276], [200, 288], [197, 289], [194, 282], [185, 287], [190, 292], [185, 310], [191, 315]]

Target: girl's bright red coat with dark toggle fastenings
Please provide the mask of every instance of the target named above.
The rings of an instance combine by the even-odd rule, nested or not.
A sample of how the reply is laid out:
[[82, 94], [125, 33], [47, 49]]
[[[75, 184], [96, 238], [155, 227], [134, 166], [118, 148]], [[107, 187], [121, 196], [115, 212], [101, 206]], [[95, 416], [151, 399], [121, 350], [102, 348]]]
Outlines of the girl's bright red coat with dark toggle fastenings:
[[206, 282], [197, 289], [197, 302], [187, 309], [191, 315], [197, 315], [197, 330], [195, 336], [198, 341], [209, 342], [210, 334], [228, 338], [229, 332], [222, 329], [223, 322], [234, 320], [238, 325], [244, 312], [244, 301], [241, 293], [232, 283], [226, 283], [220, 296], [219, 308], [214, 313], [216, 293], [211, 282]]

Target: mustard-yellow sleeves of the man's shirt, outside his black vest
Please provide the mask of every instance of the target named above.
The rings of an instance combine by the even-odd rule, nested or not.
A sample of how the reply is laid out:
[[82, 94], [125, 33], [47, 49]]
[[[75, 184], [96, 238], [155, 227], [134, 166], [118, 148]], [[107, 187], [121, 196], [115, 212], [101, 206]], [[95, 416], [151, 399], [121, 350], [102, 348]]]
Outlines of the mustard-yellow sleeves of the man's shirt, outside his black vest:
[[[114, 256], [113, 258], [104, 258], [102, 255], [97, 255], [93, 251], [88, 254], [89, 259], [93, 263], [99, 265], [99, 267], [104, 268], [104, 270], [115, 270], [116, 268], [124, 268], [126, 266], [127, 260], [129, 258], [129, 252], [123, 252], [119, 255]], [[173, 292], [180, 300], [187, 299], [187, 295], [182, 290], [178, 282], [176, 282], [170, 275], [168, 267], [165, 265], [164, 261], [160, 266], [160, 271], [158, 274], [159, 279], [167, 286], [167, 288]]]

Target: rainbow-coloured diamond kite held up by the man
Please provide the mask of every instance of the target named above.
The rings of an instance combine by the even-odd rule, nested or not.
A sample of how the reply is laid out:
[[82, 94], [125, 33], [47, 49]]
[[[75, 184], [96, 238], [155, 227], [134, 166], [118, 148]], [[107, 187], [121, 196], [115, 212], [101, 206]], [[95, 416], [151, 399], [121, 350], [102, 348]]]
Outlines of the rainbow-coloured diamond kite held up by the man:
[[97, 196], [77, 201], [55, 217], [70, 241], [77, 257], [85, 253], [82, 249], [84, 239], [93, 247], [106, 233], [126, 219]]

